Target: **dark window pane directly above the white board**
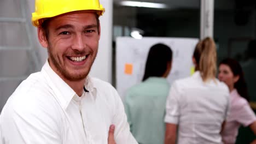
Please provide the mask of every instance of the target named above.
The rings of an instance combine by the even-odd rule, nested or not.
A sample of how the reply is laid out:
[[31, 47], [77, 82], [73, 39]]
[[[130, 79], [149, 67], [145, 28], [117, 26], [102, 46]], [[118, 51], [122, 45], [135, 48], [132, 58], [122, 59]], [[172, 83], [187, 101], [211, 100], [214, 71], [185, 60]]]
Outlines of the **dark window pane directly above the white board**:
[[119, 36], [125, 35], [125, 27], [141, 29], [144, 37], [200, 36], [199, 0], [139, 1], [165, 4], [166, 8], [128, 7], [122, 2], [114, 1], [113, 10], [114, 26], [123, 27]]

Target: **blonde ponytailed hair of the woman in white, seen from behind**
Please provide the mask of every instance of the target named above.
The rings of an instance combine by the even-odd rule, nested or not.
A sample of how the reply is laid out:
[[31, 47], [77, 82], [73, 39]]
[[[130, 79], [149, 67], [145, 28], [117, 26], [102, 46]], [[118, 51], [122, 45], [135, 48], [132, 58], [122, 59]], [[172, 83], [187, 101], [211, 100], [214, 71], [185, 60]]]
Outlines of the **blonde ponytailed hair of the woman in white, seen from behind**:
[[217, 73], [216, 45], [212, 38], [205, 38], [197, 43], [193, 57], [196, 61], [196, 70], [200, 71], [204, 82], [215, 79]]

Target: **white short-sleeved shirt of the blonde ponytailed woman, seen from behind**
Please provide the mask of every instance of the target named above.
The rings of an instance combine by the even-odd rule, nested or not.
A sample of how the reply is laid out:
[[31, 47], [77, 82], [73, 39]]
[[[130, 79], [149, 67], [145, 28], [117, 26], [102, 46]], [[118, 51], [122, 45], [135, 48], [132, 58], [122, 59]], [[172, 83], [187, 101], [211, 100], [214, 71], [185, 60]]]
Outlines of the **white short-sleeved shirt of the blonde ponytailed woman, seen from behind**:
[[173, 83], [165, 122], [179, 126], [178, 143], [222, 143], [220, 130], [228, 110], [228, 87], [217, 79], [205, 83], [196, 71]]

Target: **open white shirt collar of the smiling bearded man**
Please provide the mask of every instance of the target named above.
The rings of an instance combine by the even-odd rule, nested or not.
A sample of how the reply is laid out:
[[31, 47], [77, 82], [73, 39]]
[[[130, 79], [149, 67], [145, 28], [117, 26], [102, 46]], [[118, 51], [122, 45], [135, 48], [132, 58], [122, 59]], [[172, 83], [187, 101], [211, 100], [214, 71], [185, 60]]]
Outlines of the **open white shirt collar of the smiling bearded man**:
[[[48, 81], [50, 88], [53, 90], [54, 97], [59, 101], [63, 109], [67, 109], [72, 98], [77, 94], [51, 69], [48, 61], [45, 62], [41, 71]], [[84, 86], [89, 92], [93, 92], [95, 89], [89, 76], [86, 77]]]

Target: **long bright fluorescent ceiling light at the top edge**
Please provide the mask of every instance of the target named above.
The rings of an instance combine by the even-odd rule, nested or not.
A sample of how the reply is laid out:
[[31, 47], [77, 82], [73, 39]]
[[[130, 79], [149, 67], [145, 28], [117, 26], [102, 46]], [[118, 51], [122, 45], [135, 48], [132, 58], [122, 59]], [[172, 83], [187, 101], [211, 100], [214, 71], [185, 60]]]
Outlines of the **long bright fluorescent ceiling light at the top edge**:
[[162, 3], [148, 3], [148, 2], [136, 2], [136, 1], [122, 1], [120, 5], [130, 6], [130, 7], [146, 7], [146, 8], [167, 8], [166, 4]]

